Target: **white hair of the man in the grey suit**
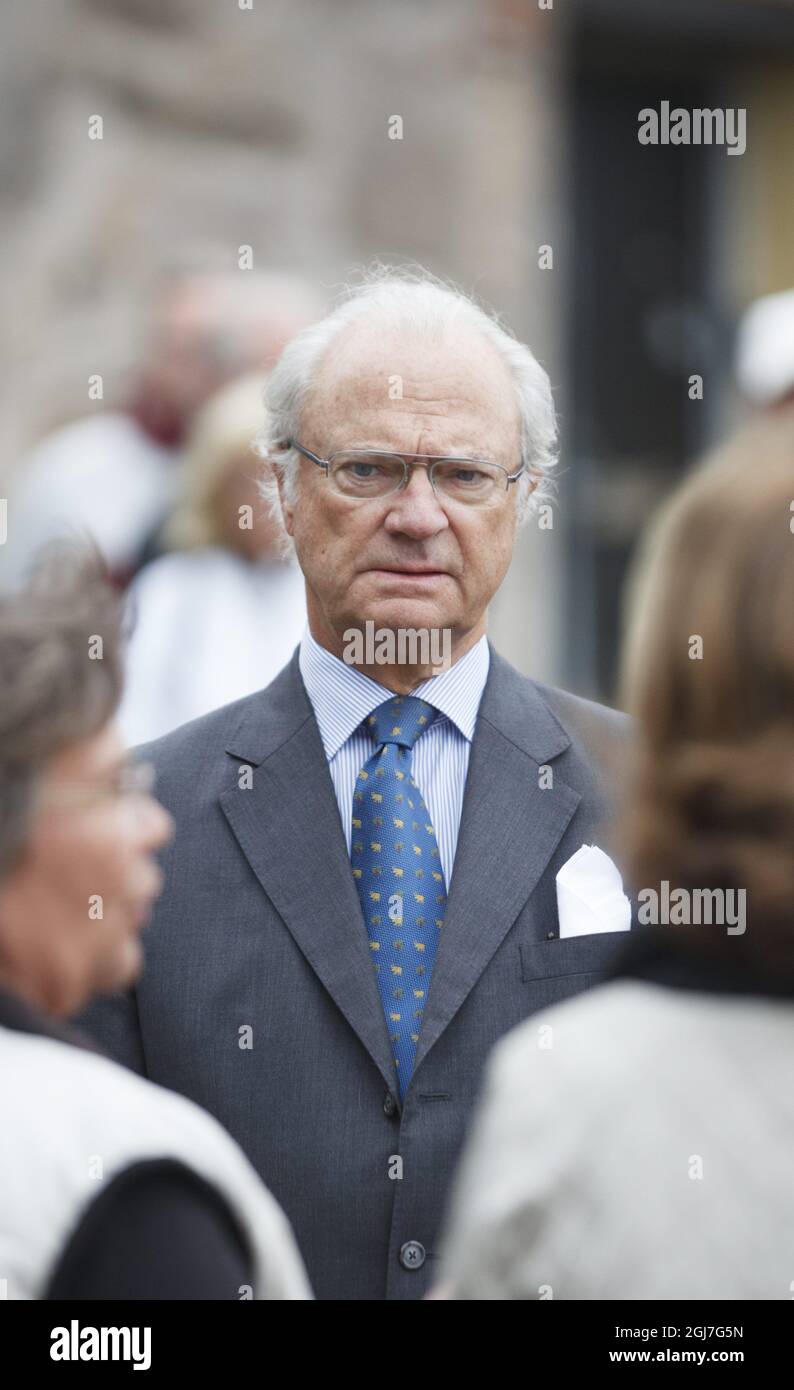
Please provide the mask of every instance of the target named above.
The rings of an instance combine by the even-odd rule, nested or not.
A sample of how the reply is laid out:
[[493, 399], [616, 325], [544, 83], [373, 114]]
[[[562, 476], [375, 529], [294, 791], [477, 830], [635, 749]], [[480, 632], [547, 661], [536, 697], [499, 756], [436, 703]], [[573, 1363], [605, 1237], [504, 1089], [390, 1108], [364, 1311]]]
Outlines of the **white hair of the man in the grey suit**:
[[[300, 431], [300, 414], [317, 381], [320, 367], [334, 339], [352, 324], [378, 317], [391, 327], [439, 335], [455, 328], [471, 328], [496, 350], [510, 373], [520, 417], [520, 455], [526, 473], [519, 480], [519, 521], [523, 523], [553, 495], [549, 473], [556, 463], [556, 418], [551, 382], [526, 343], [492, 313], [483, 309], [455, 285], [445, 284], [421, 267], [373, 265], [360, 282], [345, 285], [332, 310], [302, 329], [284, 349], [264, 393], [267, 420], [256, 452], [270, 471], [260, 491], [274, 516], [281, 518], [277, 474], [285, 496], [295, 502], [300, 457], [286, 441]], [[533, 489], [533, 481], [537, 486]], [[286, 550], [292, 546], [286, 542]]]

